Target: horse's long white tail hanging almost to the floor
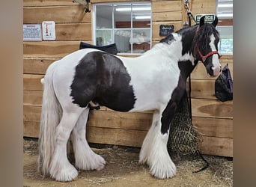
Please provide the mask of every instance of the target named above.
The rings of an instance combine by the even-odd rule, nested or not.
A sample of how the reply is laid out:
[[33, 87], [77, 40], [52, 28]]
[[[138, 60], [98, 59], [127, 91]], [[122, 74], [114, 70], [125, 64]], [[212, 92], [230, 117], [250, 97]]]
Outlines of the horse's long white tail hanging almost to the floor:
[[49, 167], [55, 147], [55, 129], [62, 115], [61, 105], [55, 96], [52, 84], [52, 76], [56, 64], [58, 64], [58, 61], [55, 61], [48, 67], [44, 79], [41, 80], [43, 84], [43, 103], [40, 119], [38, 171], [43, 176], [49, 174]]

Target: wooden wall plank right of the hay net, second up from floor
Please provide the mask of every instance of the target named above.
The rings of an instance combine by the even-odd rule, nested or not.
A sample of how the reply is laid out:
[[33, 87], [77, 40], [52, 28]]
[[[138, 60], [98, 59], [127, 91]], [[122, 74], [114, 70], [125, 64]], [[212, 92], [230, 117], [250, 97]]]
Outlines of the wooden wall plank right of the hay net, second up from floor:
[[204, 136], [233, 138], [233, 120], [209, 117], [192, 117], [193, 126]]

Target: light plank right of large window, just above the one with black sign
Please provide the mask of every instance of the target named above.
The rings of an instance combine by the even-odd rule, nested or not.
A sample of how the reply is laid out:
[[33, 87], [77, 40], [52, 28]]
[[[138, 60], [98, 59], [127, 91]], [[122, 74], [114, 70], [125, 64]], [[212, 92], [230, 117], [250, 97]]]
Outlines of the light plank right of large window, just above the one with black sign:
[[182, 20], [181, 11], [152, 13], [153, 22], [181, 21], [181, 20]]

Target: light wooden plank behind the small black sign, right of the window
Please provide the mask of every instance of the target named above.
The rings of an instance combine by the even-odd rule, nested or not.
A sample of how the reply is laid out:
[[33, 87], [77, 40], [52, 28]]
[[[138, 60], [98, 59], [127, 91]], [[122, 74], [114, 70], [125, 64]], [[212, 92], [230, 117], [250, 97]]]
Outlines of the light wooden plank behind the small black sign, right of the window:
[[169, 22], [152, 22], [152, 40], [161, 40], [164, 37], [159, 36], [159, 27], [160, 25], [174, 25], [174, 31], [182, 28], [181, 21], [169, 21]]

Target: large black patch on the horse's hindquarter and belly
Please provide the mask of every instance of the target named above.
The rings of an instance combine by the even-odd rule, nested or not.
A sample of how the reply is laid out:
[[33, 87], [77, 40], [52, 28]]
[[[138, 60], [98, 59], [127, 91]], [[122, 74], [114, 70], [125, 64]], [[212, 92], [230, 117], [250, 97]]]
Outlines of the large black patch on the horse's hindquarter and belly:
[[106, 52], [89, 52], [76, 66], [70, 96], [82, 108], [93, 100], [115, 111], [134, 107], [131, 77], [122, 61]]

